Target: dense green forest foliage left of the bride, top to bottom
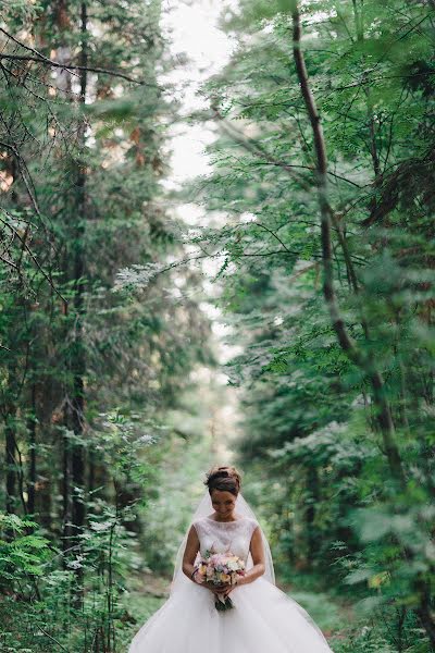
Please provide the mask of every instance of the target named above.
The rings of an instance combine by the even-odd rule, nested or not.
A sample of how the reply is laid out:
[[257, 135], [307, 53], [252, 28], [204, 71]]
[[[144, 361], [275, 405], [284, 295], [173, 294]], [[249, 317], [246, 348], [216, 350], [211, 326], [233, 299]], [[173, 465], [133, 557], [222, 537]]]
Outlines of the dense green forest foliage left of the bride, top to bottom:
[[186, 299], [195, 274], [114, 288], [119, 271], [183, 251], [161, 184], [173, 107], [158, 77], [171, 62], [159, 0], [12, 4], [0, 82], [0, 648], [108, 653], [130, 634], [134, 575], [156, 562], [167, 571], [170, 525], [150, 507], [179, 438], [167, 414], [196, 365], [212, 364], [209, 324]]

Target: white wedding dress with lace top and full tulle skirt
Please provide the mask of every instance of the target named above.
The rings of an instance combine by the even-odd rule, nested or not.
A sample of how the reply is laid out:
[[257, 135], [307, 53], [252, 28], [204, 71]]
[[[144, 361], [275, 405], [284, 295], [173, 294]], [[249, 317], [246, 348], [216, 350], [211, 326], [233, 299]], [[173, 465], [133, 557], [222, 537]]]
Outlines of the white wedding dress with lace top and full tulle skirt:
[[[258, 521], [196, 519], [200, 553], [228, 549], [249, 565]], [[182, 571], [183, 574], [183, 571]], [[296, 601], [264, 577], [235, 587], [234, 607], [219, 612], [214, 594], [178, 577], [177, 591], [140, 628], [128, 653], [331, 653], [323, 634]]]

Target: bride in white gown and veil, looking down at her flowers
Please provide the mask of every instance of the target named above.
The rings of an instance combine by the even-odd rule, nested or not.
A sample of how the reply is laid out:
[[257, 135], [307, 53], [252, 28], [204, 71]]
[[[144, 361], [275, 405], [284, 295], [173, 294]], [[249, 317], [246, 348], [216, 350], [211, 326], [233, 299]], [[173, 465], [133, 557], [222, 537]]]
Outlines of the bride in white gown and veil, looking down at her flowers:
[[[268, 540], [241, 496], [234, 467], [214, 467], [175, 563], [169, 600], [140, 628], [128, 653], [332, 653], [306, 611], [275, 586]], [[235, 586], [210, 588], [195, 563], [231, 551], [246, 563]], [[217, 611], [215, 602], [233, 608]]]

